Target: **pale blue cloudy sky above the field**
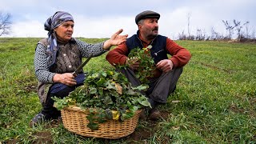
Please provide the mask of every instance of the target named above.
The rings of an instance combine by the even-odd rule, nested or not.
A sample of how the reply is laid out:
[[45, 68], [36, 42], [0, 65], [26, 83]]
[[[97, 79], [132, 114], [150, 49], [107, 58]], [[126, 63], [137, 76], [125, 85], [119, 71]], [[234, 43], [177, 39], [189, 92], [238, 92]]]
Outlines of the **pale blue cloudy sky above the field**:
[[56, 11], [69, 12], [74, 17], [74, 37], [110, 38], [115, 31], [132, 36], [138, 27], [135, 16], [144, 10], [161, 14], [159, 34], [178, 38], [178, 34], [202, 30], [206, 34], [214, 28], [226, 34], [222, 20], [233, 19], [247, 25], [249, 32], [256, 28], [255, 0], [0, 0], [0, 11], [12, 15], [12, 33], [8, 37], [45, 38], [44, 22]]

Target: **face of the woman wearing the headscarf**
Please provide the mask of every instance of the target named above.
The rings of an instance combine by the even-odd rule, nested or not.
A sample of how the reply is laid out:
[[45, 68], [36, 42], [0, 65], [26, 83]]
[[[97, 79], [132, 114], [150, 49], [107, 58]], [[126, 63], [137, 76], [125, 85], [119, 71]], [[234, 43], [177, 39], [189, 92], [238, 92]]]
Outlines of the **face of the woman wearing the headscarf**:
[[63, 22], [60, 26], [54, 29], [57, 38], [62, 42], [68, 42], [72, 38], [74, 31], [74, 22], [66, 21]]

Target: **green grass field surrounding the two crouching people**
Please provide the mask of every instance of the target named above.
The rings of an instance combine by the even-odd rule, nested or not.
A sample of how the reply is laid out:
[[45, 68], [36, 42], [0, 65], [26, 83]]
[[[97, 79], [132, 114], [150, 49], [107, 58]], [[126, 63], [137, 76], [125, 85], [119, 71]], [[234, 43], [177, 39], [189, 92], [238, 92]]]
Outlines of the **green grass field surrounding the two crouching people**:
[[[192, 58], [160, 107], [166, 118], [139, 121], [134, 134], [109, 140], [70, 133], [62, 124], [30, 128], [41, 110], [33, 65], [39, 39], [0, 38], [0, 143], [256, 143], [256, 44], [177, 41]], [[110, 66], [105, 56], [85, 70]]]

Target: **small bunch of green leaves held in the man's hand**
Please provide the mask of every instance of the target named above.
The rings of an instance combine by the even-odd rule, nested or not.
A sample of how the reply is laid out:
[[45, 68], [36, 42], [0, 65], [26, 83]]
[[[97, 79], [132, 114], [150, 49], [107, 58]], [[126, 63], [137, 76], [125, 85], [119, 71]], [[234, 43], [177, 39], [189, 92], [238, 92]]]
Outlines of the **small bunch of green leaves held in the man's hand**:
[[154, 59], [150, 56], [150, 49], [152, 46], [140, 49], [134, 48], [128, 55], [128, 62], [139, 62], [139, 67], [135, 70], [136, 78], [138, 78], [143, 84], [148, 83], [148, 78], [152, 76], [152, 72], [155, 70]]

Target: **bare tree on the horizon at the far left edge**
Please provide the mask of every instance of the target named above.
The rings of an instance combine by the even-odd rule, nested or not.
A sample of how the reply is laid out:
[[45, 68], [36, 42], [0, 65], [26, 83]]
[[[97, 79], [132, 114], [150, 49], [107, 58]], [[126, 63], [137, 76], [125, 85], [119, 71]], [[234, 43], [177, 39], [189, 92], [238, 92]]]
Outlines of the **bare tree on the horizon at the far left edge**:
[[3, 14], [0, 12], [0, 36], [3, 34], [10, 34], [11, 15], [9, 13]]

